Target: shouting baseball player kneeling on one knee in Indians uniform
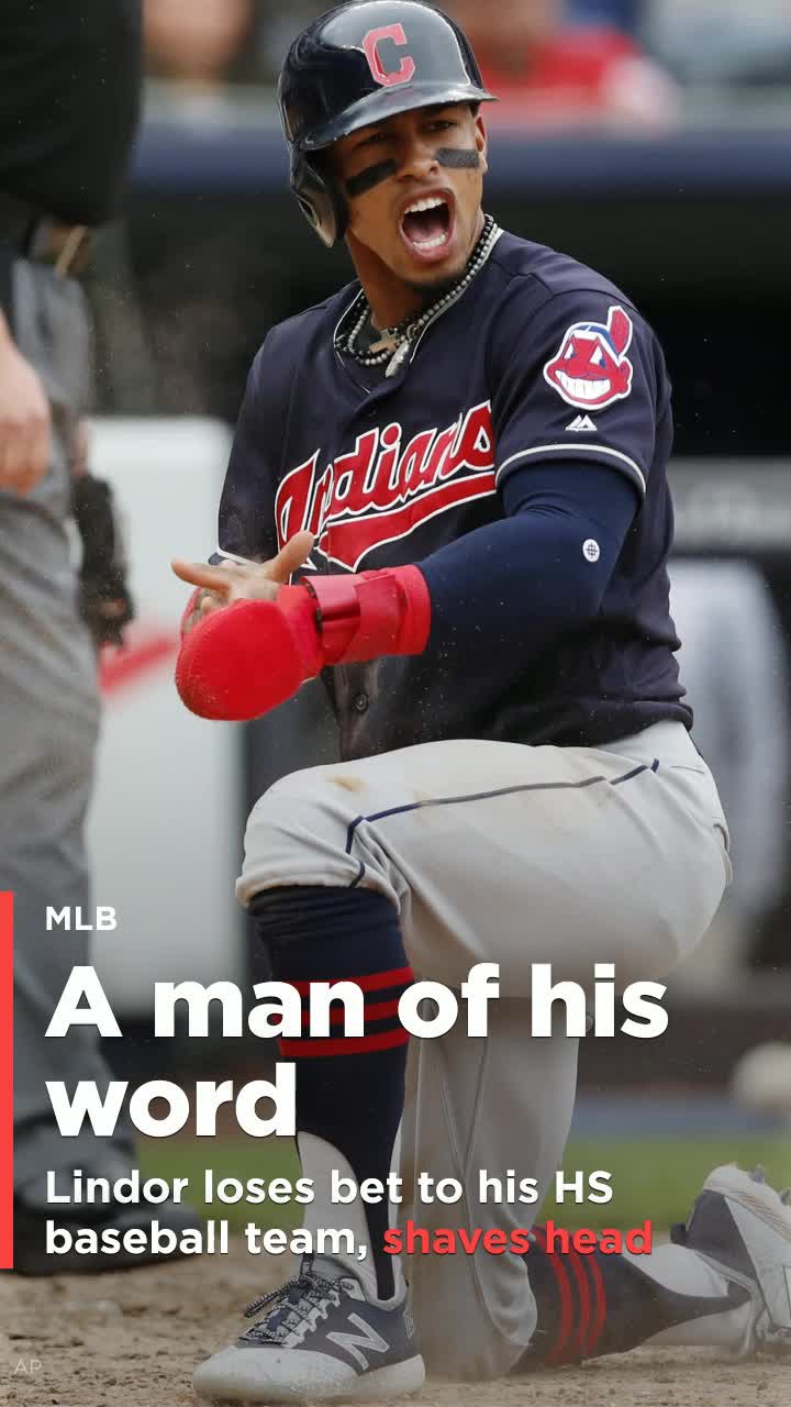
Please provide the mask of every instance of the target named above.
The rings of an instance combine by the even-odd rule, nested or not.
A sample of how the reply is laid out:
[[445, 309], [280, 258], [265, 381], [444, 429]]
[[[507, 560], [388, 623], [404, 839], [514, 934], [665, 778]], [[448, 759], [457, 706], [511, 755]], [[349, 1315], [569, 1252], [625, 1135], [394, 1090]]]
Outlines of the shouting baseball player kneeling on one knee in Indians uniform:
[[[280, 80], [291, 186], [357, 279], [270, 331], [248, 383], [177, 685], [248, 719], [327, 681], [342, 761], [255, 806], [238, 896], [273, 975], [349, 979], [362, 1037], [284, 1040], [297, 1062], [307, 1256], [196, 1373], [214, 1401], [383, 1399], [424, 1372], [495, 1377], [635, 1344], [791, 1338], [791, 1214], [718, 1169], [650, 1256], [417, 1255], [386, 1233], [494, 1227], [535, 1209], [479, 1172], [562, 1164], [577, 1041], [533, 1040], [532, 964], [587, 989], [662, 978], [729, 879], [669, 615], [670, 387], [629, 298], [481, 210], [491, 94], [464, 35], [417, 0], [325, 14]], [[500, 965], [486, 1038], [412, 1041], [414, 976]], [[407, 1200], [335, 1204], [400, 1168]], [[408, 1204], [421, 1172], [464, 1197]]]

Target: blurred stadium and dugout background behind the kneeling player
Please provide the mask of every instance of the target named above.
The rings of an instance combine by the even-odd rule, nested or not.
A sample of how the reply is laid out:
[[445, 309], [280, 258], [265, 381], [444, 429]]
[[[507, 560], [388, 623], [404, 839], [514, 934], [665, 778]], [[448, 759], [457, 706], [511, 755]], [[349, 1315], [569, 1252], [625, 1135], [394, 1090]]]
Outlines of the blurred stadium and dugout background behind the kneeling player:
[[[338, 287], [349, 266], [321, 249], [289, 196], [273, 101], [287, 42], [325, 7], [145, 8], [151, 79], [128, 214], [89, 276], [101, 373], [93, 460], [121, 490], [139, 605], [127, 649], [103, 660], [91, 846], [97, 902], [118, 909], [121, 929], [97, 934], [96, 961], [125, 1030], [107, 1043], [115, 1068], [189, 1086], [259, 1075], [273, 1051], [218, 1033], [155, 1041], [152, 983], [260, 979], [232, 899], [246, 809], [283, 772], [331, 760], [334, 741], [318, 691], [248, 729], [180, 709], [170, 680], [182, 591], [167, 561], [214, 546], [228, 438], [267, 328]], [[757, 1157], [791, 1182], [783, 1114], [730, 1092], [745, 1051], [791, 1041], [791, 4], [445, 8], [504, 94], [490, 117], [487, 208], [622, 286], [656, 326], [674, 381], [674, 611], [736, 881], [670, 983], [666, 1037], [583, 1044], [566, 1159], [615, 1172], [607, 1224], [667, 1223], [728, 1158]], [[791, 1081], [785, 1097], [791, 1110]], [[266, 1175], [290, 1158], [232, 1128], [220, 1148], [184, 1138], [145, 1150], [146, 1171], [172, 1175], [208, 1162]]]

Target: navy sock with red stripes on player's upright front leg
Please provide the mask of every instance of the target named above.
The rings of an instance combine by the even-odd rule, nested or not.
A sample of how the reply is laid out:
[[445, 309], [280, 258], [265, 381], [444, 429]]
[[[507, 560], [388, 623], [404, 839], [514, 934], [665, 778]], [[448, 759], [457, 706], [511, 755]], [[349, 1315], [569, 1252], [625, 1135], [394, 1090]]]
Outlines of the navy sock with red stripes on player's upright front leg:
[[[307, 1000], [311, 982], [355, 982], [365, 993], [365, 1034], [283, 1038], [283, 1059], [297, 1062], [297, 1144], [303, 1172], [315, 1188], [305, 1227], [357, 1228], [370, 1247], [355, 1263], [380, 1300], [397, 1289], [394, 1259], [383, 1249], [387, 1196], [379, 1204], [336, 1206], [331, 1175], [387, 1178], [404, 1106], [408, 1033], [398, 1021], [398, 998], [412, 981], [398, 915], [380, 893], [297, 885], [265, 889], [251, 902], [272, 974]], [[332, 1023], [343, 1010], [334, 1009]], [[342, 1026], [341, 1026], [342, 1030]], [[339, 1155], [339, 1157], [338, 1157]], [[349, 1261], [352, 1263], [352, 1261]], [[367, 1275], [365, 1273], [367, 1271]]]

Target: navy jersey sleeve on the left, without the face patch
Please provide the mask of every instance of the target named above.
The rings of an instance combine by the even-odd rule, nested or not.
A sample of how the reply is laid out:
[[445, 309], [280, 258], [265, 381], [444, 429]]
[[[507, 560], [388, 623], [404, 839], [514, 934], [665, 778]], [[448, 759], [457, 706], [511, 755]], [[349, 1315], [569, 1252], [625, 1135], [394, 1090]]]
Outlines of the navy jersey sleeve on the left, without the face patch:
[[[277, 553], [274, 492], [280, 464], [279, 397], [272, 387], [273, 336], [258, 353], [236, 422], [210, 561], [269, 561]], [[263, 388], [267, 388], [266, 393]]]

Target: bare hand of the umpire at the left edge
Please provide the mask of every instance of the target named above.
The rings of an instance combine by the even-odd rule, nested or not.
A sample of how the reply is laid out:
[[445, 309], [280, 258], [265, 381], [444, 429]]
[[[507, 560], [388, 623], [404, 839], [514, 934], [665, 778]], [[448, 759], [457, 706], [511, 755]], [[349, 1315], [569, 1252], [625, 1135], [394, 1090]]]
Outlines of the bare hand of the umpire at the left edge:
[[49, 469], [46, 393], [0, 314], [0, 490], [30, 494]]

